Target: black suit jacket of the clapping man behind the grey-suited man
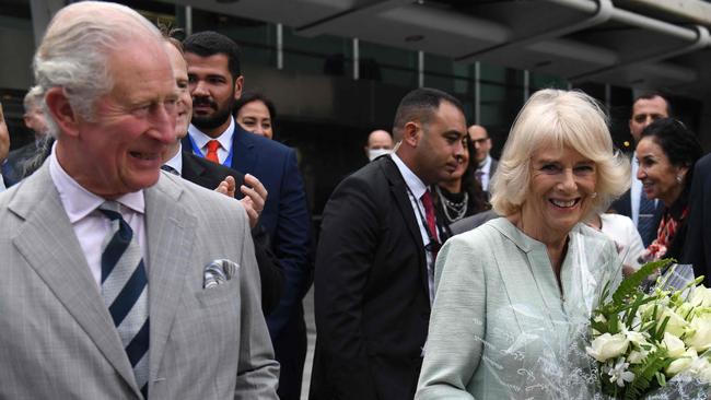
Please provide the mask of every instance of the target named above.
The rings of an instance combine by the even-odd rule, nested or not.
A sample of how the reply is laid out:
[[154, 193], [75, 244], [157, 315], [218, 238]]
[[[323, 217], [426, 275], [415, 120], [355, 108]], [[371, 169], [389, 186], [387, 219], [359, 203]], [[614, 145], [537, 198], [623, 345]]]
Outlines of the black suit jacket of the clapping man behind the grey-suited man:
[[[217, 188], [224, 178], [232, 176], [237, 184], [235, 197], [238, 199], [244, 197], [240, 191], [240, 186], [244, 184], [242, 173], [188, 152], [183, 152], [182, 176], [207, 189]], [[269, 236], [260, 224], [252, 230], [252, 238], [261, 281], [261, 310], [267, 315], [279, 304], [284, 286], [284, 275], [279, 260], [271, 252]]]

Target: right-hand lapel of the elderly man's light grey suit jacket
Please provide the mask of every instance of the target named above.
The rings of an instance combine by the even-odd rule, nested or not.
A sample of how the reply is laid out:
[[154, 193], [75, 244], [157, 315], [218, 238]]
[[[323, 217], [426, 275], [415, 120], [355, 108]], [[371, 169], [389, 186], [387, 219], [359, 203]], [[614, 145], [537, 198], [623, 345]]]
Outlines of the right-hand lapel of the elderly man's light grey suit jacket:
[[151, 318], [150, 372], [156, 378], [179, 295], [189, 277], [196, 217], [180, 205], [178, 177], [161, 174], [159, 183], [144, 190], [148, 237], [149, 313]]

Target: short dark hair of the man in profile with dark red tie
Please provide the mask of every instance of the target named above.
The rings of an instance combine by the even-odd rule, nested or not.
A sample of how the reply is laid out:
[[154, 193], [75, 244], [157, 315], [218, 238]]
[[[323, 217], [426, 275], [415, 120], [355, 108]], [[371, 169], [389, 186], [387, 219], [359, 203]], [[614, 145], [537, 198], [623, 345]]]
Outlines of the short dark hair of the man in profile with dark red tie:
[[415, 119], [419, 120], [422, 125], [430, 122], [432, 115], [436, 113], [442, 102], [452, 104], [464, 114], [462, 103], [456, 97], [440, 90], [420, 87], [406, 94], [395, 111], [393, 132], [396, 141], [401, 139], [400, 130], [407, 122]]

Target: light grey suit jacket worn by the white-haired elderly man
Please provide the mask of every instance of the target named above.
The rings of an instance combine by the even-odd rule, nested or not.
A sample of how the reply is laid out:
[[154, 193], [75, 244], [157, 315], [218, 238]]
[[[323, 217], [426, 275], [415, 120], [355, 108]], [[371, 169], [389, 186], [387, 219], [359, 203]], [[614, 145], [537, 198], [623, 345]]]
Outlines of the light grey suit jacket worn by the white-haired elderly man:
[[[144, 197], [150, 398], [276, 399], [241, 204], [165, 173]], [[0, 193], [0, 398], [141, 398], [48, 163]], [[238, 273], [203, 290], [221, 258]]]

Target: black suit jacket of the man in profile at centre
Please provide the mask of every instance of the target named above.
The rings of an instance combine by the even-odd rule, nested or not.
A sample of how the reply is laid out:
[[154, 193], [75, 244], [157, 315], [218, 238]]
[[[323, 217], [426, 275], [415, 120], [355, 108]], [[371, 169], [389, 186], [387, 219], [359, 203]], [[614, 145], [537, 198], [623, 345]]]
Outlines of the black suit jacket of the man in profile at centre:
[[389, 156], [343, 179], [328, 200], [316, 252], [312, 400], [415, 396], [430, 319], [416, 219]]

